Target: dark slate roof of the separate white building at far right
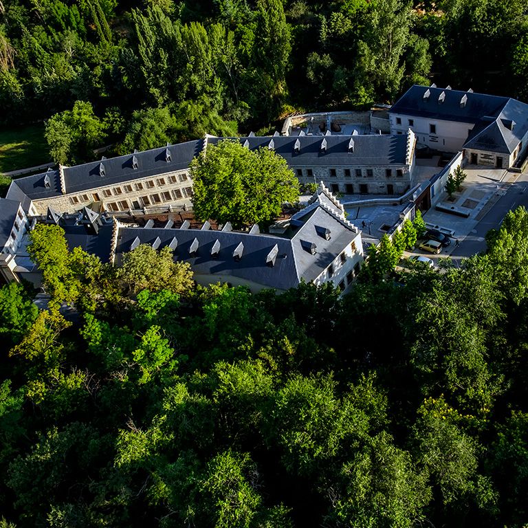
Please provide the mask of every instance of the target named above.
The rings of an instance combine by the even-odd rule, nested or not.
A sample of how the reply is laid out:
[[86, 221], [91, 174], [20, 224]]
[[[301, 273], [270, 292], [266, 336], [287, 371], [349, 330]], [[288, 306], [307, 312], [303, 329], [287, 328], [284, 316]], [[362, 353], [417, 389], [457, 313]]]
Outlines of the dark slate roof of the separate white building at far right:
[[[428, 100], [423, 98], [426, 91], [430, 92]], [[441, 94], [443, 103], [439, 104]], [[463, 147], [476, 150], [511, 154], [528, 132], [528, 104], [474, 92], [414, 85], [389, 112], [475, 124]]]

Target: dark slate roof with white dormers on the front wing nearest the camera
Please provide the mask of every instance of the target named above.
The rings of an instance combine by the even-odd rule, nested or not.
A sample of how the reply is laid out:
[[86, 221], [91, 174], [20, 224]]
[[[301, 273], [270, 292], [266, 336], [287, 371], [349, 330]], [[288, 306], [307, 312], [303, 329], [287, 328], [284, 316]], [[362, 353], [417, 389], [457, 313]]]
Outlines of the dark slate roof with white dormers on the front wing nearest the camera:
[[[336, 212], [322, 205], [311, 209], [303, 221], [300, 226], [292, 226], [285, 237], [235, 231], [120, 227], [115, 252], [118, 255], [128, 252], [133, 243], [137, 245], [137, 240], [151, 245], [159, 243], [158, 248], [164, 248], [176, 239], [175, 259], [190, 263], [197, 275], [236, 276], [283, 290], [296, 287], [301, 278], [313, 281], [358, 236], [358, 230], [351, 223], [339, 219]], [[330, 231], [329, 240], [322, 236], [325, 230]], [[196, 241], [198, 249], [192, 254], [191, 245], [196, 245]], [[211, 251], [213, 246], [217, 249], [217, 241], [220, 250], [213, 258]], [[242, 256], [236, 260], [233, 253], [236, 248], [240, 249], [241, 243]], [[316, 245], [316, 254], [307, 249], [312, 244]], [[267, 256], [275, 245], [277, 256], [274, 266], [270, 266]]]

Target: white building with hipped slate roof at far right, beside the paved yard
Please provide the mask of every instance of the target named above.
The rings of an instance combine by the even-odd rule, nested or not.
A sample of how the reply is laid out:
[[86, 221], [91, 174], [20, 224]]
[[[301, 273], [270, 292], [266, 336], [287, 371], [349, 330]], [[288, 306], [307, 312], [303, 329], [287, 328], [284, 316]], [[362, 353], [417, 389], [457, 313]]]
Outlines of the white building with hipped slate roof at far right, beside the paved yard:
[[528, 104], [472, 90], [414, 85], [389, 110], [392, 134], [410, 128], [417, 143], [463, 151], [466, 164], [509, 168], [528, 151]]

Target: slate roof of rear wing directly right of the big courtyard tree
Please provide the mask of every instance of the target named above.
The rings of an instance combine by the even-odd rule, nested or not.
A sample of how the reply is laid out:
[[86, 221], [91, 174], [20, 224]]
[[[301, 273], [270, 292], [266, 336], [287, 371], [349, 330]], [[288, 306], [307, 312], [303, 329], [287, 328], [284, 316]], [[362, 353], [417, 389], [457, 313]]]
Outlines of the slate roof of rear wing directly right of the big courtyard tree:
[[[222, 137], [207, 137], [208, 143], [217, 144]], [[350, 165], [401, 165], [406, 162], [406, 135], [305, 135], [264, 136], [230, 138], [248, 148], [269, 148], [273, 141], [274, 151], [286, 159], [290, 166], [350, 166]], [[353, 151], [349, 151], [353, 139]], [[296, 151], [296, 142], [300, 148]], [[326, 142], [325, 151], [321, 149]]]

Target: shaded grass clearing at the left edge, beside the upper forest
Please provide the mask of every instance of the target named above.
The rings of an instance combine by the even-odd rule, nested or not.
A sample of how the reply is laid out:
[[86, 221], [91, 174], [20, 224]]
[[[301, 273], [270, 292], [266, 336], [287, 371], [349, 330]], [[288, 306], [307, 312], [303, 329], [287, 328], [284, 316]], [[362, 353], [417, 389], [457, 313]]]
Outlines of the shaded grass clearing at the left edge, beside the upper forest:
[[0, 129], [0, 174], [49, 161], [43, 123]]

